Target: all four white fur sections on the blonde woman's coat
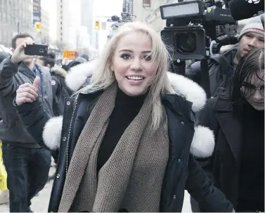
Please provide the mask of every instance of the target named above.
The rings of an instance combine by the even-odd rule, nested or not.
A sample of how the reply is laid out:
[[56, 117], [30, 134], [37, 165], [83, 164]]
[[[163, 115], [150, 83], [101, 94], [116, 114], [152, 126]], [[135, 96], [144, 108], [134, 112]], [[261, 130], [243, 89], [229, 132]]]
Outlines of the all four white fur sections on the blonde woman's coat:
[[[80, 89], [86, 82], [86, 79], [91, 77], [93, 74], [95, 65], [96, 60], [72, 67], [65, 78], [67, 86], [69, 86], [69, 88], [74, 92]], [[181, 75], [176, 75], [172, 72], [167, 72], [167, 75], [176, 93], [186, 98], [187, 101], [193, 103], [192, 109], [194, 112], [199, 112], [202, 108], [204, 108], [207, 98], [202, 87]], [[63, 117], [53, 117], [44, 127], [44, 142], [46, 143], [46, 146], [51, 149], [56, 149], [60, 146], [62, 124]], [[195, 127], [190, 153], [196, 157], [209, 157], [212, 155], [213, 151], [213, 132], [209, 128], [202, 127], [200, 125]]]

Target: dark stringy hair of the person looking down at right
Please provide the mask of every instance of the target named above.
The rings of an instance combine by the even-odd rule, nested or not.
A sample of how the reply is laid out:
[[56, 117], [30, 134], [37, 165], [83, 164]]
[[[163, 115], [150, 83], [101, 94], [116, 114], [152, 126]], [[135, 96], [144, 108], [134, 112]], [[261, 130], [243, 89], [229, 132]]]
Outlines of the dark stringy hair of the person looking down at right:
[[[250, 81], [253, 75], [259, 78], [259, 72], [264, 72], [264, 49], [255, 49], [243, 56], [235, 69], [231, 84], [227, 93], [220, 93], [219, 97], [231, 101], [233, 107], [240, 107], [251, 93], [248, 90], [242, 90], [245, 81]], [[264, 77], [261, 79], [264, 81]]]

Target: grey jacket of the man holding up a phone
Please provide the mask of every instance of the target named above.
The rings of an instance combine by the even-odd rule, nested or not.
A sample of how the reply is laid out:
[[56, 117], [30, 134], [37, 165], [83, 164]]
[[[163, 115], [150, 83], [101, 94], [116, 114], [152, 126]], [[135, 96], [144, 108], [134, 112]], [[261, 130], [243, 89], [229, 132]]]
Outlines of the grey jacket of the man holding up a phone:
[[[18, 113], [15, 110], [13, 101], [16, 90], [21, 84], [33, 84], [35, 75], [25, 65], [20, 63], [16, 65], [11, 63], [11, 57], [8, 57], [0, 64], [0, 138], [3, 141], [19, 143], [35, 143], [34, 138], [27, 133], [22, 126]], [[46, 112], [53, 115], [53, 94], [51, 89], [51, 75], [46, 67], [36, 64], [37, 69], [41, 72], [42, 93], [41, 101]], [[37, 144], [35, 145], [37, 146]]]

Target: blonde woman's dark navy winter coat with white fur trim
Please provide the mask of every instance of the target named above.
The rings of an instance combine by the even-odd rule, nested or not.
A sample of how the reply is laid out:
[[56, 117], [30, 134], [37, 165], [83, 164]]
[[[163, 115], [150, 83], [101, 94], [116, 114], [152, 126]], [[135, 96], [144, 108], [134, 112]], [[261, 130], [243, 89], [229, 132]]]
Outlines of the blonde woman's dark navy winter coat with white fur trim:
[[[86, 72], [83, 77], [79, 77], [81, 79], [79, 82], [78, 78], [72, 79], [71, 83], [75, 89], [80, 88], [89, 75], [91, 73]], [[193, 111], [198, 112], [205, 105], [205, 92], [185, 77], [172, 73], [168, 75], [178, 95], [162, 96], [162, 105], [167, 112], [170, 153], [162, 185], [160, 211], [181, 212], [184, 191], [187, 189], [209, 212], [231, 212], [233, 209], [231, 203], [221, 191], [216, 190], [212, 181], [193, 159], [193, 155], [209, 157], [214, 148], [212, 131], [201, 126], [194, 127]], [[17, 108], [20, 119], [32, 136], [39, 140], [43, 138], [42, 146], [51, 150], [60, 147], [49, 211], [58, 211], [65, 171], [69, 167], [77, 139], [82, 131], [81, 127], [88, 119], [101, 93], [102, 91], [89, 90], [79, 93], [76, 98], [67, 98], [63, 117], [49, 117], [41, 108], [39, 101], [20, 105]], [[33, 120], [33, 116], [29, 116], [28, 113], [34, 115]], [[32, 123], [35, 125], [32, 126]]]

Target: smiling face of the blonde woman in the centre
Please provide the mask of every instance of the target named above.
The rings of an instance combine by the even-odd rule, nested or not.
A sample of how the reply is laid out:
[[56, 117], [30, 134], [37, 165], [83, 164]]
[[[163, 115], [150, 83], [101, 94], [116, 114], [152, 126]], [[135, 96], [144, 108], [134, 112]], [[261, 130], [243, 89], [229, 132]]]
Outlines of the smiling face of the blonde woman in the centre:
[[157, 64], [152, 60], [152, 41], [142, 32], [119, 39], [112, 58], [112, 70], [124, 93], [140, 96], [148, 91]]

